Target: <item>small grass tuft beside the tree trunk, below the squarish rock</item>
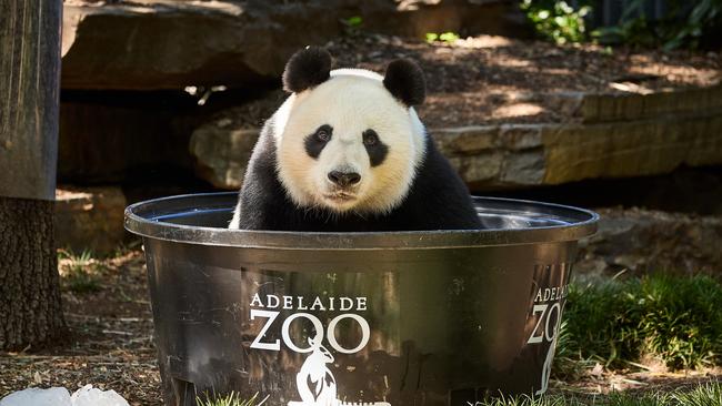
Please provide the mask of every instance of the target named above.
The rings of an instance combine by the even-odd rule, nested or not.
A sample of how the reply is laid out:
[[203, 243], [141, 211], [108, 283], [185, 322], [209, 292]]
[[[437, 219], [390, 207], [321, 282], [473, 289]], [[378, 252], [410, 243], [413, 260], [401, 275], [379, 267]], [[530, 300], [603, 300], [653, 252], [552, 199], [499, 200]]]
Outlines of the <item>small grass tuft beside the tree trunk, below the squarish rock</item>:
[[58, 260], [62, 276], [62, 287], [74, 293], [89, 293], [100, 290], [100, 272], [102, 265], [93, 258], [91, 251], [80, 255], [59, 250]]

